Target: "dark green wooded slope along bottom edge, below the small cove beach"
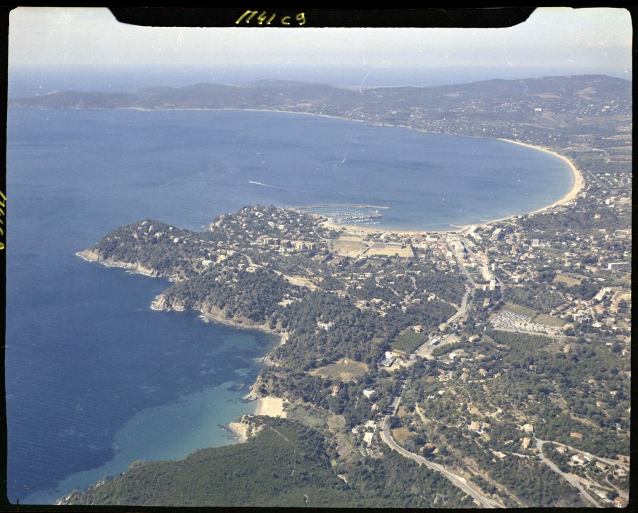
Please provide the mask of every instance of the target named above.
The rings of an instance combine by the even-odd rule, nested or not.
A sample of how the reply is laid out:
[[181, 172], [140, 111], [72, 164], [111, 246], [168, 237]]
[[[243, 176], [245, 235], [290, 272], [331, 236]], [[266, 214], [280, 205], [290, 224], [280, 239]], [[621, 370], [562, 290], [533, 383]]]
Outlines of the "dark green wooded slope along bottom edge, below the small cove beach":
[[[259, 432], [244, 444], [202, 449], [181, 461], [135, 462], [60, 504], [164, 507], [430, 507], [425, 495], [438, 478], [390, 456], [369, 479], [349, 485], [330, 468], [325, 439], [298, 422], [252, 417]], [[405, 468], [403, 468], [405, 467]], [[466, 501], [444, 482], [437, 494]], [[399, 495], [400, 494], [400, 495]], [[401, 502], [397, 502], [397, 500]]]

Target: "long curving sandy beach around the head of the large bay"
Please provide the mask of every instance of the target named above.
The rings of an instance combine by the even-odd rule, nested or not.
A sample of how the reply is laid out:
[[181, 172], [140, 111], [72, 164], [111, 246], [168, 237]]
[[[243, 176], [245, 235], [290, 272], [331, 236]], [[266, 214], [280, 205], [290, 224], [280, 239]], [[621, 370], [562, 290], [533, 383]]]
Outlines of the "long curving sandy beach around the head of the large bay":
[[512, 219], [513, 217], [518, 217], [520, 215], [531, 215], [531, 214], [539, 214], [541, 212], [545, 212], [549, 209], [552, 209], [554, 207], [557, 207], [560, 204], [565, 204], [565, 203], [569, 203], [573, 200], [576, 200], [576, 197], [578, 197], [578, 193], [581, 192], [581, 190], [583, 189], [583, 186], [585, 185], [585, 179], [583, 178], [583, 173], [581, 173], [581, 171], [578, 170], [578, 168], [576, 168], [576, 166], [573, 165], [573, 162], [569, 160], [569, 158], [567, 158], [566, 156], [563, 156], [561, 154], [556, 153], [556, 151], [552, 151], [550, 149], [547, 148], [543, 148], [542, 146], [532, 146], [532, 144], [526, 144], [524, 142], [518, 142], [518, 141], [512, 141], [510, 139], [499, 139], [500, 141], [504, 141], [504, 142], [510, 142], [512, 144], [519, 144], [520, 146], [526, 146], [527, 148], [531, 148], [531, 149], [537, 149], [539, 151], [544, 151], [545, 153], [548, 153], [550, 155], [556, 156], [558, 158], [560, 158], [562, 161], [564, 161], [568, 166], [569, 169], [571, 170], [571, 175], [573, 177], [573, 184], [571, 186], [571, 190], [569, 190], [569, 192], [567, 192], [566, 195], [564, 195], [563, 197], [561, 197], [560, 200], [547, 205], [546, 207], [542, 207], [540, 209], [535, 210], [534, 212], [521, 212], [520, 214], [513, 214], [511, 216], [507, 216], [507, 217], [501, 217], [499, 219], [492, 219], [490, 221], [481, 221], [480, 223], [474, 223], [474, 224], [467, 224], [467, 225], [462, 225], [462, 226], [454, 226], [454, 229], [449, 229], [449, 230], [395, 230], [395, 229], [391, 229], [391, 228], [372, 228], [369, 226], [354, 226], [351, 224], [335, 224], [332, 221], [324, 221], [323, 222], [323, 226], [325, 226], [326, 228], [329, 229], [334, 229], [334, 230], [340, 230], [340, 229], [346, 229], [349, 233], [352, 234], [383, 234], [383, 233], [389, 233], [389, 234], [399, 234], [399, 235], [423, 235], [423, 234], [437, 234], [437, 233], [454, 233], [454, 232], [459, 232], [459, 231], [464, 231], [466, 229], [469, 229], [470, 226], [481, 226], [484, 224], [491, 224], [491, 223], [498, 223], [500, 221], [507, 221], [508, 219]]

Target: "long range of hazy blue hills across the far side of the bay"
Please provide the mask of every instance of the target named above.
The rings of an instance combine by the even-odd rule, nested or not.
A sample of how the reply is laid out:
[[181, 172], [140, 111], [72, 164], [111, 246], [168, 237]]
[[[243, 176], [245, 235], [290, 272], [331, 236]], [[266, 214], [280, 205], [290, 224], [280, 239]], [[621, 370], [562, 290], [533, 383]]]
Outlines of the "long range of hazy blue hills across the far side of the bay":
[[180, 88], [148, 87], [131, 93], [55, 92], [12, 98], [9, 107], [284, 111], [423, 132], [513, 139], [554, 149], [573, 144], [606, 148], [615, 137], [632, 132], [632, 82], [604, 75], [360, 91], [281, 80], [237, 86], [198, 83]]

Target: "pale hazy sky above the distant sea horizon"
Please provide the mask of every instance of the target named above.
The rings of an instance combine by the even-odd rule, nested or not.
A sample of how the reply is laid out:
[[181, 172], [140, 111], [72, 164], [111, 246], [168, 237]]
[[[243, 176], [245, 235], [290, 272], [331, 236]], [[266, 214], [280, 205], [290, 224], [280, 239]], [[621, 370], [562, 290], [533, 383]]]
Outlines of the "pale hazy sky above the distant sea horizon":
[[[106, 8], [20, 7], [9, 17], [9, 69], [179, 65], [255, 74], [269, 70], [254, 79], [296, 79], [299, 69], [352, 69], [353, 77], [389, 78], [406, 69], [425, 74], [462, 68], [470, 78], [472, 70], [476, 76], [481, 70], [499, 75], [492, 78], [525, 78], [537, 70], [537, 76], [591, 73], [631, 79], [632, 35], [624, 8], [537, 8], [511, 28], [291, 30], [234, 23], [141, 27], [119, 23]], [[209, 75], [214, 79], [216, 73]]]

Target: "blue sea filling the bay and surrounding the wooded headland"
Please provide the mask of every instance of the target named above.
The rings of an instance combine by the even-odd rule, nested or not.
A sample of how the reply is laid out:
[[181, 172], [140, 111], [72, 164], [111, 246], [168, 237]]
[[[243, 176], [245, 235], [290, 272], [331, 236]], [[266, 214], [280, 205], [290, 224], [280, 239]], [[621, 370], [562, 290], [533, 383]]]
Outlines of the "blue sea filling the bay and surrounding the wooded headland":
[[234, 442], [220, 425], [278, 340], [153, 311], [166, 279], [76, 253], [140, 219], [203, 231], [246, 205], [369, 204], [451, 229], [571, 189], [561, 159], [498, 140], [252, 111], [7, 113], [7, 497], [52, 504], [135, 460]]

